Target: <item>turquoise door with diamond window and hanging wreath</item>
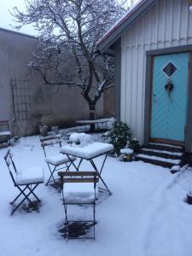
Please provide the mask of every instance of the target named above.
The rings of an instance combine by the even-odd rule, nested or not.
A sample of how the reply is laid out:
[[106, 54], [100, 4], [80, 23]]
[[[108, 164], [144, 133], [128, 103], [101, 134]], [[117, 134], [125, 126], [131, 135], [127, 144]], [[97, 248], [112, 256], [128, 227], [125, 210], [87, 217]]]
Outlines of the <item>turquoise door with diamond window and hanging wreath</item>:
[[189, 54], [154, 57], [151, 138], [184, 142]]

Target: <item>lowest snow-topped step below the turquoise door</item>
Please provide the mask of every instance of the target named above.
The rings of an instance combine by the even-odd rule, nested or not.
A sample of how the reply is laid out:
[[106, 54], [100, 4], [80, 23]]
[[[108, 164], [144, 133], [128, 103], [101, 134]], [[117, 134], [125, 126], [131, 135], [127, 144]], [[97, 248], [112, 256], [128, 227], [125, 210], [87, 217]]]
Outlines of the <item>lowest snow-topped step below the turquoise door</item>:
[[142, 160], [143, 162], [147, 162], [156, 166], [163, 166], [172, 168], [172, 166], [180, 165], [181, 160], [180, 159], [167, 159], [162, 158], [155, 155], [150, 154], [136, 154], [135, 160]]

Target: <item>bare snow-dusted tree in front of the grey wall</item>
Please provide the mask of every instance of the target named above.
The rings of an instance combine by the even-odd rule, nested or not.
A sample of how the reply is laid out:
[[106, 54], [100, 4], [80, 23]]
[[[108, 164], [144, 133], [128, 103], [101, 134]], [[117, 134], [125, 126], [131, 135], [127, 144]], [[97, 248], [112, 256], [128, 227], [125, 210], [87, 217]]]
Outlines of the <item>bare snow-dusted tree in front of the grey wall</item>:
[[25, 12], [13, 11], [18, 29], [32, 24], [38, 30], [38, 54], [31, 67], [47, 84], [79, 87], [90, 119], [114, 75], [112, 58], [102, 56], [96, 42], [124, 12], [116, 0], [26, 0]]

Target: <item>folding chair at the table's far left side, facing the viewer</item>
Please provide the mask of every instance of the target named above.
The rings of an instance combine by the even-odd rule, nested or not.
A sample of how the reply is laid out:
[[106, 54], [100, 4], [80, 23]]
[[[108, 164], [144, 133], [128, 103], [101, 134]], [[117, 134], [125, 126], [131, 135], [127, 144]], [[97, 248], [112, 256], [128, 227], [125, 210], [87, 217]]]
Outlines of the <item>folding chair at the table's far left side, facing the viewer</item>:
[[[66, 171], [69, 171], [70, 166], [72, 165], [72, 162], [76, 160], [75, 157], [72, 157], [71, 160], [68, 159], [67, 155], [63, 155], [61, 153], [54, 154], [48, 156], [48, 146], [53, 146], [57, 144], [61, 148], [61, 134], [50, 136], [50, 137], [44, 137], [40, 139], [41, 146], [44, 149], [44, 156], [45, 156], [45, 162], [48, 165], [50, 176], [46, 183], [48, 185], [49, 183], [54, 182], [55, 183], [55, 177], [54, 172], [59, 171], [61, 169], [66, 169]], [[47, 149], [45, 149], [47, 148]]]

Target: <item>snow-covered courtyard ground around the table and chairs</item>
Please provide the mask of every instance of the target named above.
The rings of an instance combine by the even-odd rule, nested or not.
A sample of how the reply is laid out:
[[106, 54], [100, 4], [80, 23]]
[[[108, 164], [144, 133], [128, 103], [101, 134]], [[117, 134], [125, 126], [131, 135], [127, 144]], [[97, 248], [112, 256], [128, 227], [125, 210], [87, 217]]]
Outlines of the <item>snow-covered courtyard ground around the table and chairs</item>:
[[[160, 166], [108, 157], [102, 177], [113, 195], [96, 205], [96, 241], [66, 241], [58, 232], [64, 221], [61, 195], [50, 186], [36, 190], [42, 200], [39, 212], [16, 211], [10, 217], [9, 201], [17, 190], [3, 160], [6, 150], [0, 149], [1, 256], [192, 255], [192, 206], [184, 201], [192, 172], [172, 175]], [[11, 150], [18, 167], [43, 166], [49, 177], [39, 137], [22, 138]], [[90, 170], [86, 162], [84, 169]]]

